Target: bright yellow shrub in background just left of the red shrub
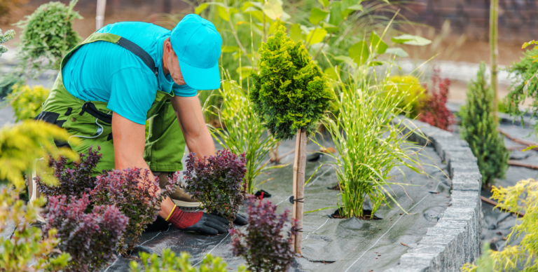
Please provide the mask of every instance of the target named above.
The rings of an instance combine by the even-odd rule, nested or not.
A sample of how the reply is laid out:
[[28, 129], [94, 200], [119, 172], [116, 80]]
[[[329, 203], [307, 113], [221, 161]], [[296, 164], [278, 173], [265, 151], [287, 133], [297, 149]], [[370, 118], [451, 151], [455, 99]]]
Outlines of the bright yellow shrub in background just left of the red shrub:
[[425, 95], [425, 88], [415, 76], [391, 76], [385, 85], [385, 90], [387, 95], [388, 93], [396, 93], [392, 96], [394, 99], [405, 94], [397, 107], [406, 111], [406, 116], [410, 118], [415, 118], [418, 115], [418, 103], [420, 97]]

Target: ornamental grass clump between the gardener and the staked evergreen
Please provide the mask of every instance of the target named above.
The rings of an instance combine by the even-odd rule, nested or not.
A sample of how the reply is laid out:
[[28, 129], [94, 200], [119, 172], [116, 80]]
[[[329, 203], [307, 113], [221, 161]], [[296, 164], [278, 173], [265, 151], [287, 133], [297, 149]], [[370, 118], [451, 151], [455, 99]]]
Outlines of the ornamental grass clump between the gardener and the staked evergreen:
[[[206, 112], [210, 114], [216, 112], [220, 128], [210, 126], [209, 131], [223, 147], [230, 149], [234, 154], [245, 154], [247, 173], [244, 179], [247, 183], [247, 193], [253, 194], [256, 186], [269, 180], [255, 183], [254, 179], [258, 175], [270, 169], [286, 166], [268, 166], [269, 161], [263, 162], [278, 141], [273, 135], [268, 135], [252, 109], [248, 94], [235, 81], [229, 79], [223, 81], [219, 94], [222, 97], [221, 107], [212, 106], [210, 109], [213, 110], [206, 109]], [[206, 104], [210, 99], [212, 97], [207, 98]]]

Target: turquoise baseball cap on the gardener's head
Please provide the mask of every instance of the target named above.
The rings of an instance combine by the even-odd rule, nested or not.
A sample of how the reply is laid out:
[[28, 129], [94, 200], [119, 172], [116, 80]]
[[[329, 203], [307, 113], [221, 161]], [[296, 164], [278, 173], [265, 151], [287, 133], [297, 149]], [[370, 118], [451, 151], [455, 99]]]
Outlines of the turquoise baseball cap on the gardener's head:
[[212, 22], [195, 14], [186, 15], [172, 29], [170, 43], [189, 87], [214, 90], [221, 86], [222, 38]]

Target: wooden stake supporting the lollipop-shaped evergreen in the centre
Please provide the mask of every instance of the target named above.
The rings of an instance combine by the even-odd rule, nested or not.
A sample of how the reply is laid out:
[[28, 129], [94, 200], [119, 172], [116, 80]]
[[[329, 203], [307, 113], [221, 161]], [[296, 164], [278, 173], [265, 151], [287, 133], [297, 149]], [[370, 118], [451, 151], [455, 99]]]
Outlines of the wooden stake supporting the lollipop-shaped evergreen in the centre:
[[303, 240], [303, 204], [305, 201], [305, 168], [306, 168], [306, 130], [301, 129], [297, 132], [298, 135], [301, 135], [301, 147], [299, 147], [299, 152], [296, 156], [298, 160], [298, 170], [297, 170], [297, 194], [294, 199], [296, 205], [296, 219], [297, 224], [295, 229], [298, 229], [295, 236], [295, 252], [302, 254], [301, 252], [301, 240]]

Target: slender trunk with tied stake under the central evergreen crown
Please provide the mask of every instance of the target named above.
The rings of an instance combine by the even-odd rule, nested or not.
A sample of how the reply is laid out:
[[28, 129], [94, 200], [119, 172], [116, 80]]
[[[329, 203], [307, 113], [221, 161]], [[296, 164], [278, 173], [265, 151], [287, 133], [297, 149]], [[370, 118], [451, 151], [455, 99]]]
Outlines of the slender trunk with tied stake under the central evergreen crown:
[[294, 207], [292, 217], [297, 219], [295, 229], [298, 230], [292, 245], [295, 252], [301, 254], [303, 240], [303, 202], [305, 200], [305, 168], [306, 168], [306, 130], [297, 131], [294, 158]]

